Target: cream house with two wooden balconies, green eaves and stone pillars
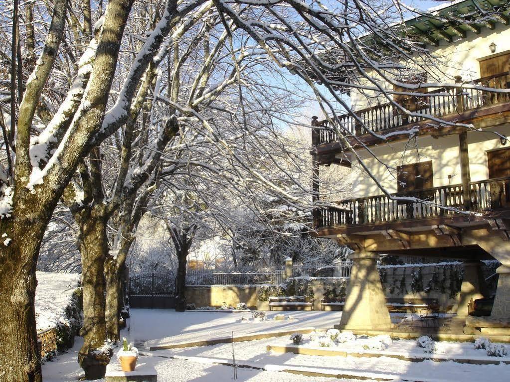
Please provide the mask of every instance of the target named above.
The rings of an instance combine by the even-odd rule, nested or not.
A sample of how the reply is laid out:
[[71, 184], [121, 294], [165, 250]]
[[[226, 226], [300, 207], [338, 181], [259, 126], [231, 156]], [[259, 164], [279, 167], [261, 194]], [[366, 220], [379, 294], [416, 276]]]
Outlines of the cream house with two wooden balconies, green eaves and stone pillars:
[[[510, 321], [508, 4], [481, 3], [491, 12], [476, 22], [471, 0], [407, 20], [437, 58], [433, 66], [415, 57], [415, 75], [391, 83], [370, 73], [380, 90], [351, 90], [354, 113], [336, 125], [312, 120], [316, 232], [355, 250], [344, 328], [390, 324], [375, 266], [381, 253], [457, 258], [467, 267], [498, 260], [491, 317]], [[329, 165], [359, 171], [352, 199], [321, 203], [320, 168]], [[466, 301], [480, 296], [469, 269]]]

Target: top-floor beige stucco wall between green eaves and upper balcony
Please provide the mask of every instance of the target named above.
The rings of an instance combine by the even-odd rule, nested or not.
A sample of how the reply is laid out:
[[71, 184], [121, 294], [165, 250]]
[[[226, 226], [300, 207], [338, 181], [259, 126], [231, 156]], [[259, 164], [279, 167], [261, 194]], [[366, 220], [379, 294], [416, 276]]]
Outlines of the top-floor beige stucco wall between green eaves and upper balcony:
[[[501, 23], [497, 23], [494, 30], [482, 28], [479, 35], [474, 32], [467, 32], [465, 39], [460, 39], [458, 37], [454, 37], [453, 39], [453, 43], [440, 40], [438, 47], [427, 45], [433, 57], [437, 58], [433, 67], [430, 65], [425, 66], [427, 82], [452, 83], [454, 82], [453, 78], [457, 75], [462, 76], [464, 80], [480, 78], [479, 60], [497, 56], [499, 53], [508, 50], [510, 47], [510, 45], [508, 45], [510, 28]], [[491, 53], [489, 49], [489, 45], [493, 42], [496, 44], [496, 52], [494, 54]], [[417, 64], [414, 65], [417, 68], [417, 72], [424, 71], [423, 60], [416, 54], [414, 59]], [[409, 65], [409, 63], [407, 64]], [[375, 79], [380, 79], [379, 76], [375, 76], [372, 72], [368, 72], [368, 74]], [[363, 79], [360, 83], [365, 86], [373, 86], [367, 79]], [[384, 81], [378, 81], [378, 83], [385, 89], [393, 89], [392, 86], [389, 86]], [[370, 97], [367, 98], [367, 95]], [[353, 110], [361, 110], [365, 107], [375, 106], [377, 101], [381, 103], [388, 102], [384, 96], [373, 98], [375, 95], [377, 95], [377, 93], [373, 91], [352, 89], [351, 106]]]

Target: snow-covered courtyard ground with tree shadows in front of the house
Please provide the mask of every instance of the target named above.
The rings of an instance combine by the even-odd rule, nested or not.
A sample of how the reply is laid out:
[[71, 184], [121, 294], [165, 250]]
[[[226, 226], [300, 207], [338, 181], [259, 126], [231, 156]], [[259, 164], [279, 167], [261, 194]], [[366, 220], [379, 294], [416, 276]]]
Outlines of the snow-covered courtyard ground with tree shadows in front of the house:
[[[271, 312], [273, 314], [281, 312]], [[282, 329], [285, 331], [303, 326], [331, 328], [340, 319], [341, 312], [285, 312], [295, 320], [264, 321], [258, 323], [239, 322], [238, 314], [215, 314], [210, 312], [175, 313], [169, 310], [131, 311], [131, 331], [123, 335], [131, 341], [147, 341], [141, 349], [143, 362], [152, 363], [158, 371], [160, 382], [220, 382], [232, 379], [230, 366], [218, 365], [218, 362], [232, 362], [232, 344], [188, 347], [165, 350], [148, 350], [149, 346], [162, 343], [177, 343], [184, 340], [197, 341], [241, 333]], [[331, 374], [386, 376], [394, 380], [411, 381], [491, 381], [508, 380], [510, 365], [471, 365], [449, 362], [408, 362], [389, 357], [355, 358], [355, 357], [319, 357], [293, 353], [271, 353], [267, 345], [277, 342], [288, 343], [284, 337], [268, 338], [257, 341], [237, 342], [234, 344], [238, 365], [256, 366], [266, 370], [238, 368], [238, 380], [250, 382], [279, 381], [341, 381], [337, 378], [309, 377], [287, 372], [274, 371], [285, 368], [315, 368]], [[402, 351], [415, 348], [414, 341], [394, 341], [402, 346]], [[77, 343], [67, 354], [62, 354], [55, 361], [43, 365], [45, 382], [69, 382], [78, 380], [82, 372], [78, 366], [77, 354], [82, 341]], [[150, 344], [148, 346], [148, 344]], [[443, 346], [443, 345], [441, 345]], [[455, 344], [445, 344], [447, 351], [459, 351]], [[450, 346], [450, 347], [448, 347]], [[462, 346], [472, 346], [461, 344]], [[455, 350], [456, 349], [456, 350]], [[474, 350], [473, 350], [474, 351]], [[478, 350], [476, 350], [478, 351]], [[112, 362], [117, 362], [113, 359]], [[345, 380], [345, 379], [344, 379]]]

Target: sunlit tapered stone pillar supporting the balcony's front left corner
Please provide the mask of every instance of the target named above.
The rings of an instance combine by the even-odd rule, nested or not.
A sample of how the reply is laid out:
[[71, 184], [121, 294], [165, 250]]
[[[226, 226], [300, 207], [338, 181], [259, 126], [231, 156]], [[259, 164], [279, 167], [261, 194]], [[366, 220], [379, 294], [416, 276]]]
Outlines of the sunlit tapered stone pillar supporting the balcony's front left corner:
[[391, 327], [386, 296], [377, 271], [378, 257], [365, 251], [349, 255], [353, 264], [340, 329], [385, 330]]

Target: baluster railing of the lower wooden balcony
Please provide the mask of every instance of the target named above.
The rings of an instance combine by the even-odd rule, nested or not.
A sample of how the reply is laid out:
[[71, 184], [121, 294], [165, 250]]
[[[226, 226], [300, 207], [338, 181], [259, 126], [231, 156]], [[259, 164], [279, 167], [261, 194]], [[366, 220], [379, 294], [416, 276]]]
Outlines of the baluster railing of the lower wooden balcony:
[[[510, 178], [470, 183], [472, 212], [510, 208]], [[409, 198], [413, 198], [409, 200]], [[462, 184], [335, 202], [314, 210], [316, 228], [391, 223], [455, 215], [464, 211]]]

